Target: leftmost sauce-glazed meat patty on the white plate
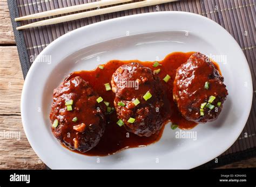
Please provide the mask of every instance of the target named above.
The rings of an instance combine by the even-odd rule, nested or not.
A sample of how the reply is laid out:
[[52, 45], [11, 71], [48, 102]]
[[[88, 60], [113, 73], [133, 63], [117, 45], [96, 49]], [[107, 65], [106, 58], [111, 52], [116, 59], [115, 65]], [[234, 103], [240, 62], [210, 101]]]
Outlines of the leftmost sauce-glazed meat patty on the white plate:
[[89, 83], [77, 76], [53, 91], [52, 133], [71, 150], [95, 147], [105, 131], [105, 106]]

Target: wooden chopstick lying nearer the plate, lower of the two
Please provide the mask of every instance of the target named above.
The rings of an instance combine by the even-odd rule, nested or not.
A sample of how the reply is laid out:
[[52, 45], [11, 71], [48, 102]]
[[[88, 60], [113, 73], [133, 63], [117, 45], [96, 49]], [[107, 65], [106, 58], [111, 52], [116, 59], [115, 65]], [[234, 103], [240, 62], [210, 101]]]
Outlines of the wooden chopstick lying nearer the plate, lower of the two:
[[169, 2], [174, 2], [174, 1], [178, 1], [178, 0], [158, 0], [158, 1], [148, 1], [147, 0], [147, 1], [142, 1], [142, 2], [111, 6], [109, 8], [97, 9], [97, 10], [92, 10], [92, 11], [87, 11], [87, 12], [76, 13], [73, 15], [67, 15], [67, 16], [37, 21], [35, 23], [31, 23], [28, 25], [19, 26], [16, 29], [22, 30], [25, 28], [58, 24], [58, 23], [63, 23], [65, 21], [72, 21], [72, 20], [87, 18], [87, 17], [91, 17], [91, 16], [104, 15], [105, 13], [112, 13], [112, 12], [118, 12], [118, 11], [123, 11], [123, 10], [142, 8], [145, 6], [158, 5], [158, 4], [169, 3]]

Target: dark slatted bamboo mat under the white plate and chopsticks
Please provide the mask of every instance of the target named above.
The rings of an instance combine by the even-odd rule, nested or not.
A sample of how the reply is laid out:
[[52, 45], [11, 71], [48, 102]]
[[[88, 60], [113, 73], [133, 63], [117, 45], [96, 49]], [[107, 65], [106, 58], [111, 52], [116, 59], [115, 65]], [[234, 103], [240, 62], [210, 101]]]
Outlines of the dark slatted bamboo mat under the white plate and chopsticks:
[[[256, 86], [256, 49], [255, 49], [255, 2], [254, 0], [191, 0], [161, 4], [127, 10], [122, 12], [109, 13], [102, 16], [79, 19], [51, 26], [30, 28], [21, 32], [16, 31], [17, 24], [15, 17], [30, 15], [32, 13], [46, 10], [63, 8], [66, 6], [83, 4], [86, 0], [8, 0], [12, 25], [14, 26], [15, 38], [24, 78], [28, 72], [33, 59], [53, 40], [61, 35], [75, 30], [76, 28], [96, 23], [98, 21], [134, 15], [144, 12], [156, 11], [186, 11], [208, 17], [223, 26], [237, 40], [244, 51], [253, 78], [253, 87]], [[37, 19], [39, 20], [39, 19]], [[35, 20], [33, 20], [35, 21]], [[23, 24], [31, 23], [24, 21]], [[86, 37], [86, 36], [85, 36]], [[253, 93], [253, 105], [250, 117], [244, 130], [235, 141], [234, 145], [215, 160], [200, 166], [199, 168], [214, 168], [223, 164], [245, 159], [256, 155], [256, 91]], [[245, 96], [246, 97], [246, 96]], [[247, 135], [247, 136], [246, 136]], [[225, 140], [223, 140], [225, 141]]]

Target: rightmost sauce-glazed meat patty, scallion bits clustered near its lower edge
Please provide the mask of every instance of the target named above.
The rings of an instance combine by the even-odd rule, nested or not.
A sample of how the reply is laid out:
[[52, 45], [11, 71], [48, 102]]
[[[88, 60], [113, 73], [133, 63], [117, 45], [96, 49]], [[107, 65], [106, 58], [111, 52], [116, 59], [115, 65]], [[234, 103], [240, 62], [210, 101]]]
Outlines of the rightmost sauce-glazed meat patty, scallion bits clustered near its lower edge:
[[176, 71], [173, 99], [187, 120], [206, 123], [217, 119], [228, 95], [224, 77], [213, 62], [193, 53]]

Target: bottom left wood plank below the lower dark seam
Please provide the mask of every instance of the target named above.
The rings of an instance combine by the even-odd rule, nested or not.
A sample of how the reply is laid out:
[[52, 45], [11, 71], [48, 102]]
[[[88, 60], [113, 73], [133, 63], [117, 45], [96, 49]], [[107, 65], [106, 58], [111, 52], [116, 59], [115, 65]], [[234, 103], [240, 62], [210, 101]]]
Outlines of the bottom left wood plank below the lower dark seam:
[[0, 116], [0, 169], [45, 169], [24, 133], [21, 116]]

